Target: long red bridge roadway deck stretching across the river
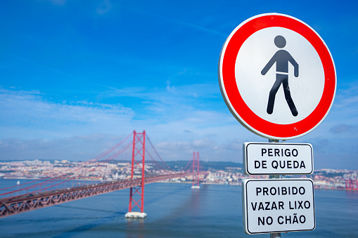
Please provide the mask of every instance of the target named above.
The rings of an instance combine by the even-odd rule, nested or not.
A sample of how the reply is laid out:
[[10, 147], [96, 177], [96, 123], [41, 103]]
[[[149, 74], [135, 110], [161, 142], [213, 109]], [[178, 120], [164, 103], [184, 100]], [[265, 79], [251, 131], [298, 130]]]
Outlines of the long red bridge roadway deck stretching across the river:
[[[144, 183], [155, 183], [171, 178], [193, 176], [197, 172], [170, 173], [162, 176], [146, 177]], [[129, 187], [141, 185], [141, 178], [122, 181], [103, 182], [96, 185], [84, 185], [79, 187], [70, 187], [60, 190], [39, 192], [35, 194], [25, 194], [17, 197], [8, 197], [0, 199], [0, 218], [41, 209], [47, 206], [63, 204], [68, 201], [92, 197], [99, 194], [105, 194], [117, 190], [123, 190]]]

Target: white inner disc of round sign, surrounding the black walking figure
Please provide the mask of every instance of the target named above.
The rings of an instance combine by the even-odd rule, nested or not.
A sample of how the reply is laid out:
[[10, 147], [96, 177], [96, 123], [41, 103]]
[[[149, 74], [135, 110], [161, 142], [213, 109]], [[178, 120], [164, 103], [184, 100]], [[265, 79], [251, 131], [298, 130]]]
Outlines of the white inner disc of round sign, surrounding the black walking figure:
[[[284, 36], [286, 46], [281, 49], [274, 44], [276, 36]], [[272, 94], [272, 112], [268, 101], [271, 88], [277, 84], [279, 72], [274, 65], [264, 72], [262, 70], [269, 60], [280, 51], [286, 51], [298, 64], [298, 76], [295, 77], [295, 67], [287, 62], [287, 88], [276, 88]], [[255, 62], [255, 63], [252, 63]], [[298, 63], [299, 62], [299, 63]], [[283, 73], [280, 73], [283, 74]], [[241, 46], [236, 58], [235, 77], [238, 91], [252, 112], [262, 119], [274, 124], [294, 124], [311, 114], [319, 104], [324, 91], [324, 68], [318, 53], [309, 41], [293, 30], [283, 27], [268, 27], [252, 34]], [[292, 107], [286, 101], [292, 102]], [[291, 112], [295, 110], [297, 114]]]

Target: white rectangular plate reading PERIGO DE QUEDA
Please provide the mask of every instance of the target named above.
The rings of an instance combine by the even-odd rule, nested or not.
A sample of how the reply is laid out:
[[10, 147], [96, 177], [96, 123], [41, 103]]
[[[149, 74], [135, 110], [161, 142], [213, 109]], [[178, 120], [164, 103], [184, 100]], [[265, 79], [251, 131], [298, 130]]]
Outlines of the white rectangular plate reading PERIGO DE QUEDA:
[[243, 143], [245, 174], [312, 174], [311, 144]]

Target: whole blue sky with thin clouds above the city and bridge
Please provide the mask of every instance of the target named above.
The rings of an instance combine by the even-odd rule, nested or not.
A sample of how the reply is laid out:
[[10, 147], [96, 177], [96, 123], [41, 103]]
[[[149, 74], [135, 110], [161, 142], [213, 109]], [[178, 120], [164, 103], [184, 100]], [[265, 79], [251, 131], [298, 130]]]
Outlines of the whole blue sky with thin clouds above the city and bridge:
[[356, 1], [1, 1], [0, 159], [91, 159], [146, 130], [165, 160], [242, 161], [267, 142], [234, 119], [219, 90], [226, 37], [262, 13], [313, 27], [333, 55], [335, 103], [290, 142], [315, 168], [358, 169]]

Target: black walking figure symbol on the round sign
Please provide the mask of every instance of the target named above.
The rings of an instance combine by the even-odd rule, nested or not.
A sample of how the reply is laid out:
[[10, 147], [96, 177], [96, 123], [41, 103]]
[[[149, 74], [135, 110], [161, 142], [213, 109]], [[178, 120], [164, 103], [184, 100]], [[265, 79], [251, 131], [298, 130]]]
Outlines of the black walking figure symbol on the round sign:
[[[274, 43], [277, 47], [283, 48], [286, 46], [286, 39], [282, 36], [277, 36], [274, 39]], [[271, 60], [267, 63], [264, 69], [261, 71], [261, 74], [266, 74], [269, 69], [276, 62], [276, 81], [274, 86], [272, 86], [269, 93], [269, 103], [267, 103], [267, 113], [272, 114], [274, 112], [274, 103], [277, 91], [281, 84], [283, 85], [283, 92], [285, 93], [286, 102], [288, 107], [290, 107], [291, 113], [294, 117], [298, 115], [297, 109], [293, 100], [291, 98], [290, 87], [288, 87], [288, 62], [290, 62], [294, 67], [294, 75], [298, 77], [298, 63], [293, 59], [293, 57], [285, 50], [277, 51]]]

